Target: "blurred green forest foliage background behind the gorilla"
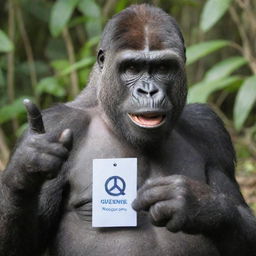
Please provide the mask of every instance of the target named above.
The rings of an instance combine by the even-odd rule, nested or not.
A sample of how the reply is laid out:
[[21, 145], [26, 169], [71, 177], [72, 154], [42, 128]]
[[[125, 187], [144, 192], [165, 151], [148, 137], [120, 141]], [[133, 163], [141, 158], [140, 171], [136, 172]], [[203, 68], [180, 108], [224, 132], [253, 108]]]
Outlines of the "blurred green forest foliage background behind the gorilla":
[[207, 102], [224, 121], [256, 211], [255, 0], [0, 0], [0, 170], [27, 127], [23, 99], [42, 109], [72, 100], [86, 86], [106, 21], [142, 2], [180, 24], [188, 102]]

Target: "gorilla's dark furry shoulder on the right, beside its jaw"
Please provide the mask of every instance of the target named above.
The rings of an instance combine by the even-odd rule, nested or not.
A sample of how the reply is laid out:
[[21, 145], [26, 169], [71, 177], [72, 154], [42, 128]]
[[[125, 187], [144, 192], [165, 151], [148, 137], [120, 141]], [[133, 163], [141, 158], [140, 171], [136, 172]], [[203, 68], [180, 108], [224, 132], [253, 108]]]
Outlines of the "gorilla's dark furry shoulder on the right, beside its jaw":
[[176, 126], [204, 155], [207, 162], [234, 170], [236, 161], [234, 148], [222, 120], [207, 104], [187, 104]]

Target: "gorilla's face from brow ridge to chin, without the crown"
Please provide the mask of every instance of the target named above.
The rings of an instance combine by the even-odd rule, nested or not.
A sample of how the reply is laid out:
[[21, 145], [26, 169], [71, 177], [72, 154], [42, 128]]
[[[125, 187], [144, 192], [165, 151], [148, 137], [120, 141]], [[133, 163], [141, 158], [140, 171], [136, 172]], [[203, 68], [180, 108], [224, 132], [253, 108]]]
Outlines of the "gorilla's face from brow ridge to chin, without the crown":
[[139, 146], [161, 141], [185, 104], [184, 61], [172, 49], [112, 56], [105, 58], [99, 98], [114, 130]]

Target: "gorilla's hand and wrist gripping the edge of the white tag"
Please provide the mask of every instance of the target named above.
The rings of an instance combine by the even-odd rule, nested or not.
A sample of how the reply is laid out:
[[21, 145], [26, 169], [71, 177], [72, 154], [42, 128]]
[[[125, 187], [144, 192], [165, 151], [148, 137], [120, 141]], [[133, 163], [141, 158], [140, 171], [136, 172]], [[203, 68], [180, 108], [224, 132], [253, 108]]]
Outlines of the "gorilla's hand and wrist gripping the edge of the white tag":
[[237, 213], [226, 196], [182, 175], [147, 181], [132, 206], [136, 211], [149, 211], [152, 224], [171, 232], [215, 232]]

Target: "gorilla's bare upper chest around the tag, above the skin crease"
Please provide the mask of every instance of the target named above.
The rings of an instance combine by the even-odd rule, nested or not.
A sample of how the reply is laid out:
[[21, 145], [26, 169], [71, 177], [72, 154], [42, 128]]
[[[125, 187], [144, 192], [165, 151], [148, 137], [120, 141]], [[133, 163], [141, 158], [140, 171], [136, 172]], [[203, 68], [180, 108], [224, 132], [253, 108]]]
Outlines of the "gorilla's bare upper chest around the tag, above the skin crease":
[[101, 126], [104, 125], [92, 124], [84, 139], [80, 139], [75, 145], [75, 157], [70, 164], [72, 168], [69, 170], [71, 201], [73, 198], [79, 200], [81, 197], [91, 201], [94, 159], [137, 158], [138, 188], [147, 179], [173, 174], [206, 181], [203, 157], [178, 134], [173, 134], [165, 145], [156, 149], [155, 152], [146, 154]]

